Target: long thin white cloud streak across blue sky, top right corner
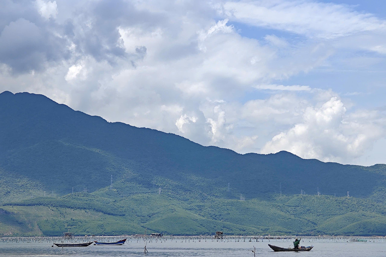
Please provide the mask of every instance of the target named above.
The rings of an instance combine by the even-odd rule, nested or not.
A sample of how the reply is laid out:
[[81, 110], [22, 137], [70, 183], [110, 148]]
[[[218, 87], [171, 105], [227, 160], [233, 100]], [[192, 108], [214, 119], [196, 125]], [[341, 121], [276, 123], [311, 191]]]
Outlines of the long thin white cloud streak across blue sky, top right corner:
[[383, 20], [347, 6], [301, 0], [226, 2], [219, 12], [230, 21], [314, 38], [332, 39], [386, 27]]

